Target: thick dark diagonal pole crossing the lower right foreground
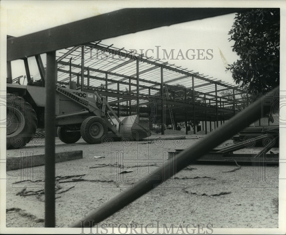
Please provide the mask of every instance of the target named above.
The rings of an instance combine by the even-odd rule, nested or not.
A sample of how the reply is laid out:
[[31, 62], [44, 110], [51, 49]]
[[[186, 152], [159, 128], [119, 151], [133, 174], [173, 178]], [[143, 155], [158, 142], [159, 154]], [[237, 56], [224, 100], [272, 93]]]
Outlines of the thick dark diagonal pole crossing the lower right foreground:
[[[225, 125], [217, 128], [216, 131], [210, 133], [205, 138], [184, 150], [176, 158], [168, 161], [164, 166], [152, 172], [152, 174], [147, 175], [144, 180], [139, 180], [133, 185], [133, 188], [125, 190], [95, 211], [88, 214], [83, 219], [75, 222], [72, 227], [88, 227], [90, 226], [90, 220], [92, 220], [92, 223], [94, 224], [101, 222], [115, 212], [124, 208], [124, 206], [144, 195], [146, 192], [152, 190], [156, 185], [166, 181], [176, 172], [179, 172], [184, 167], [192, 164], [206, 152], [212, 150], [219, 144], [231, 138], [237, 132], [243, 130], [249, 124], [259, 119], [261, 115], [266, 114], [271, 110], [271, 103], [274, 103], [274, 99], [279, 99], [279, 86], [273, 89], [271, 93], [274, 94], [272, 97], [265, 96], [260, 100], [257, 100], [255, 103], [233, 116]], [[265, 102], [266, 100], [267, 102]], [[268, 103], [268, 105], [264, 105], [266, 103]], [[168, 169], [171, 169], [173, 166], [176, 166], [175, 171], [169, 172]], [[159, 179], [153, 179], [154, 175], [160, 176]], [[163, 176], [165, 178], [163, 178]], [[84, 222], [82, 223], [81, 221]]]

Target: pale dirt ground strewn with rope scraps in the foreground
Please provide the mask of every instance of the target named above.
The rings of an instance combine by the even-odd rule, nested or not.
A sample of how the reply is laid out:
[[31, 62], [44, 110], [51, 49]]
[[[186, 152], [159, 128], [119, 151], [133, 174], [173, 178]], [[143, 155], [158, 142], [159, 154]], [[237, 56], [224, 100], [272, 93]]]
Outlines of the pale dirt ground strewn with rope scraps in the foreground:
[[[56, 164], [56, 227], [69, 227], [126, 187], [132, 187], [132, 183], [162, 166], [162, 156], [169, 148], [184, 149], [198, 140], [89, 145], [82, 139], [76, 144], [63, 144], [56, 138], [56, 152], [83, 150], [83, 159]], [[231, 144], [233, 141], [228, 140], [219, 147]], [[111, 157], [116, 151], [124, 153], [123, 160], [116, 154], [115, 158]], [[39, 143], [34, 154], [43, 153], [44, 143]], [[19, 156], [19, 150], [7, 150], [9, 156]], [[98, 156], [104, 158], [95, 158]], [[175, 226], [211, 223], [213, 228], [278, 228], [279, 168], [267, 166], [265, 181], [253, 179], [252, 166], [235, 168], [235, 162], [190, 165], [102, 223], [156, 224], [156, 220], [160, 220], [160, 223]], [[118, 174], [123, 170], [130, 172]], [[15, 183], [21, 178], [20, 170], [7, 172], [17, 176], [17, 179], [7, 180], [6, 185], [7, 227], [44, 227], [45, 196], [40, 193], [44, 187], [41, 181], [44, 166], [34, 167], [32, 171], [34, 182], [18, 184]]]

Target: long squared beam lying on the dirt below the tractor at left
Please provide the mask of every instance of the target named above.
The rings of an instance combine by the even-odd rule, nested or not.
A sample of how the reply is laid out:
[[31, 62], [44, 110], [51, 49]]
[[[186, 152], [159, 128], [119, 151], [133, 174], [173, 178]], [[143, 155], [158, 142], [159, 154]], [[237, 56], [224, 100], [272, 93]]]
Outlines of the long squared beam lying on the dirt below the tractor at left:
[[[45, 154], [33, 155], [31, 149], [25, 148], [20, 152], [19, 157], [7, 157], [6, 159], [6, 171], [18, 170], [23, 168], [29, 168], [34, 166], [45, 165]], [[82, 158], [82, 150], [70, 151], [70, 152], [60, 152], [55, 154], [55, 162], [66, 162]]]

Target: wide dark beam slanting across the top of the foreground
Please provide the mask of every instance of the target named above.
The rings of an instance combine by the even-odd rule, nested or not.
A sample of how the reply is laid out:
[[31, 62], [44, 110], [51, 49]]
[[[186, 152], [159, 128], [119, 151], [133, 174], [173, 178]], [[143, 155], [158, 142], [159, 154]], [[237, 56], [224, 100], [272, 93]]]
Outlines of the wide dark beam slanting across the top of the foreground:
[[[243, 8], [127, 8], [7, 40], [7, 61], [102, 39], [246, 10]], [[128, 16], [128, 17], [126, 17]], [[168, 16], [168, 17], [166, 17]], [[91, 30], [88, 25], [96, 25]], [[84, 27], [83, 27], [84, 26]], [[76, 32], [76, 36], [75, 36]], [[25, 45], [25, 46], [23, 46]]]

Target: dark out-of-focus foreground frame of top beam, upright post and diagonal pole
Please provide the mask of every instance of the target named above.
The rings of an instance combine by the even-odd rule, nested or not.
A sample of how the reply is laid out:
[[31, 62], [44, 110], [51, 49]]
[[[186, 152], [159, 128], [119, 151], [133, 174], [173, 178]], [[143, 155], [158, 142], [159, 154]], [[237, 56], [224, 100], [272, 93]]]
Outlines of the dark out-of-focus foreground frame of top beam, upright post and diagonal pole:
[[[237, 8], [145, 8], [122, 9], [88, 19], [76, 21], [51, 29], [31, 33], [7, 40], [7, 81], [11, 80], [11, 61], [23, 59], [27, 63], [27, 57], [47, 54], [47, 68], [42, 76], [45, 77], [46, 93], [49, 99], [45, 104], [45, 227], [55, 227], [55, 83], [57, 82], [56, 51], [64, 48], [86, 45], [106, 38], [116, 37], [128, 33], [134, 33], [156, 27], [182, 23], [186, 21], [214, 17], [228, 13], [249, 9]], [[126, 17], [128, 16], [128, 17]], [[167, 16], [167, 17], [166, 17]], [[92, 30], [91, 27], [96, 27]], [[59, 59], [58, 59], [59, 60]], [[59, 60], [60, 61], [60, 60]], [[130, 62], [131, 63], [131, 62]], [[136, 63], [139, 63], [136, 60]], [[164, 71], [164, 65], [160, 66], [160, 74]], [[171, 67], [169, 67], [171, 68]], [[165, 68], [166, 69], [166, 68]], [[82, 72], [84, 69], [82, 69]], [[139, 73], [139, 71], [136, 71]], [[182, 69], [181, 73], [184, 72]], [[27, 74], [28, 75], [28, 74]], [[186, 74], [187, 75], [187, 74]], [[188, 74], [189, 75], [189, 74]], [[191, 75], [194, 77], [194, 75]], [[82, 76], [84, 77], [84, 75]], [[130, 77], [130, 75], [129, 75]], [[137, 76], [138, 77], [138, 76]], [[163, 76], [162, 76], [163, 77]], [[109, 78], [108, 78], [109, 79]], [[140, 78], [141, 79], [141, 78]], [[174, 79], [174, 78], [170, 78]], [[194, 78], [193, 78], [194, 79]], [[204, 79], [202, 79], [204, 80]], [[107, 80], [108, 81], [108, 80]], [[108, 81], [109, 82], [109, 81]], [[166, 80], [165, 80], [166, 82]], [[213, 81], [215, 82], [215, 81]], [[82, 83], [84, 84], [84, 82]], [[136, 83], [136, 88], [139, 87]], [[144, 85], [144, 83], [141, 83]], [[156, 84], [154, 84], [156, 85]], [[202, 85], [202, 84], [201, 84]], [[217, 84], [218, 85], [218, 84]], [[139, 87], [143, 88], [143, 87]], [[160, 85], [163, 93], [163, 84]], [[233, 89], [233, 87], [231, 88]], [[119, 89], [118, 89], [119, 90]], [[235, 89], [236, 90], [236, 89]], [[142, 92], [142, 91], [141, 91]], [[212, 132], [203, 141], [197, 142], [176, 158], [176, 168], [172, 174], [180, 171], [186, 165], [191, 164], [204, 153], [221, 144], [231, 136], [259, 119], [261, 115], [271, 110], [274, 99], [279, 101], [279, 87], [272, 91], [272, 96], [264, 97], [267, 102], [257, 100], [247, 109], [239, 112], [229, 122]], [[265, 104], [265, 105], [264, 105]], [[268, 104], [268, 105], [267, 105]], [[127, 204], [136, 200], [154, 185], [167, 180], [172, 174], [168, 172], [174, 166], [174, 159], [158, 168], [153, 175], [161, 176], [159, 180], [139, 180], [132, 189], [119, 194], [116, 198], [103, 204], [95, 212], [87, 216], [87, 220], [98, 223]], [[150, 176], [150, 175], [149, 175]], [[147, 176], [147, 177], [149, 177]], [[167, 176], [162, 178], [163, 176]], [[76, 222], [73, 227], [81, 227], [84, 224]]]

